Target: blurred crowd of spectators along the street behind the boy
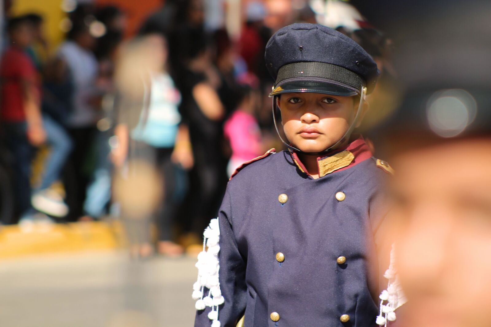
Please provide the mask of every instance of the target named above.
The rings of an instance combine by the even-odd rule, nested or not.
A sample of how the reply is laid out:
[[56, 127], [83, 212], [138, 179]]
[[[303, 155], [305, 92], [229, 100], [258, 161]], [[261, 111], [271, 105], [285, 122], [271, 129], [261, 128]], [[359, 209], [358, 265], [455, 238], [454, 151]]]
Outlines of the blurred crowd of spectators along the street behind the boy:
[[[297, 2], [244, 3], [244, 24], [231, 36], [205, 27], [202, 0], [167, 0], [130, 39], [123, 10], [79, 3], [56, 48], [42, 16], [8, 17], [0, 64], [2, 223], [119, 217], [135, 255], [194, 251], [228, 177], [282, 148], [264, 63], [274, 31], [329, 21], [374, 56], [386, 72], [380, 84], [391, 85], [390, 42], [354, 8], [340, 21]], [[386, 101], [381, 94], [372, 100]]]

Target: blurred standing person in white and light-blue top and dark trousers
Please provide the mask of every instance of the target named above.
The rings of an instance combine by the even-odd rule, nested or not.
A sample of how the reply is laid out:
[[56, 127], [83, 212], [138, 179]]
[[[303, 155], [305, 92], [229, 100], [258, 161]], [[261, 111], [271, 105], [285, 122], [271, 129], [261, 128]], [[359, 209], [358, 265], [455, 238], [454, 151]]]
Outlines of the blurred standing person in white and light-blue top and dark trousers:
[[[183, 137], [189, 145], [186, 130], [179, 126], [181, 115], [178, 106], [181, 95], [167, 72], [168, 50], [162, 34], [140, 35], [129, 46], [133, 47], [129, 49], [133, 53], [126, 52], [126, 58], [122, 58], [122, 64], [119, 66], [122, 70], [118, 73], [122, 74], [119, 78], [123, 78], [119, 83], [122, 87], [120, 91], [124, 91], [125, 87], [132, 83], [141, 85], [134, 85], [140, 90], [134, 94], [136, 101], [129, 101], [127, 96], [122, 95], [119, 124], [115, 129], [118, 146], [112, 151], [112, 157], [121, 174], [124, 174], [123, 169], [128, 160], [135, 159], [145, 160], [159, 174], [160, 178], [154, 182], [163, 188], [163, 198], [152, 213], [153, 217], [149, 219], [153, 218], [157, 224], [157, 251], [160, 254], [177, 256], [181, 255], [184, 249], [173, 242], [172, 233], [179, 204], [176, 203], [176, 191], [179, 189], [176, 165], [186, 167], [190, 164], [189, 161], [184, 162], [181, 148]], [[128, 66], [135, 64], [137, 68]], [[132, 75], [133, 81], [129, 79]], [[191, 149], [189, 155], [190, 151]], [[136, 176], [139, 174], [138, 171], [128, 172], [132, 173]], [[135, 222], [130, 221], [128, 228], [132, 225], [135, 225]], [[127, 231], [133, 247], [132, 252], [148, 256], [152, 252], [150, 224], [140, 220], [139, 225], [140, 235], [135, 235], [135, 231], [132, 230]], [[136, 249], [137, 247], [139, 249]]]

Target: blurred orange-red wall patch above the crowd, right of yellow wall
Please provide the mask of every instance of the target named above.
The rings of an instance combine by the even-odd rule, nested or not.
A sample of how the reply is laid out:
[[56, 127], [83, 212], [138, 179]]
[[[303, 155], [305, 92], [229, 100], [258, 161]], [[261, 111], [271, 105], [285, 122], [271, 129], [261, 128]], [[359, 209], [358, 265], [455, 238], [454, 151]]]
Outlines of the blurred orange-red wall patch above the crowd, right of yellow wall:
[[164, 0], [95, 0], [97, 6], [115, 5], [121, 8], [128, 20], [126, 37], [135, 34], [141, 23], [152, 12], [158, 10], [164, 4]]

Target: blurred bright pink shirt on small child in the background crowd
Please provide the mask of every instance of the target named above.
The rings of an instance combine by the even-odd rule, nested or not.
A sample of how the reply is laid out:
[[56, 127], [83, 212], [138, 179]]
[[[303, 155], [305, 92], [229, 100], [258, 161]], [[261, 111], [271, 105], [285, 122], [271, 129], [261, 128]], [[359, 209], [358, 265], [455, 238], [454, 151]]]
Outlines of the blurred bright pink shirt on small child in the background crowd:
[[234, 162], [234, 166], [238, 167], [262, 154], [261, 132], [256, 119], [251, 114], [240, 109], [236, 110], [225, 122], [223, 131], [230, 141], [232, 148], [230, 161]]

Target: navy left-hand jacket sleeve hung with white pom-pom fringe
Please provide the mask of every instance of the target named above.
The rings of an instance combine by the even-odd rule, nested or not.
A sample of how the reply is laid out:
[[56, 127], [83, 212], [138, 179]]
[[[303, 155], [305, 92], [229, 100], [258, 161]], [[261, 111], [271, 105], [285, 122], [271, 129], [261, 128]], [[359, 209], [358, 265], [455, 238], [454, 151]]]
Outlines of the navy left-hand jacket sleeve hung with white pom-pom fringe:
[[[207, 252], [213, 250], [213, 244], [216, 242], [216, 239], [213, 239], [213, 233], [209, 232], [212, 223], [204, 233], [208, 246]], [[194, 327], [235, 327], [246, 310], [246, 259], [239, 252], [233, 230], [230, 187], [227, 187], [227, 192], [218, 212], [218, 226], [219, 251], [218, 255], [215, 256], [218, 258], [218, 285], [214, 285], [213, 277], [210, 278], [212, 279], [211, 282], [202, 278], [202, 267], [199, 266], [200, 257], [198, 256], [196, 266], [199, 273], [196, 283], [202, 287], [200, 288], [201, 294], [196, 295], [201, 295], [204, 303], [200, 302], [201, 299], [196, 302], [197, 311]], [[208, 238], [207, 236], [212, 237]], [[202, 253], [200, 255], [205, 257]], [[196, 286], [199, 286], [196, 283], [193, 287], [195, 292]], [[195, 294], [193, 293], [193, 295]], [[210, 298], [212, 299], [210, 300]], [[205, 307], [201, 309], [203, 304]]]

